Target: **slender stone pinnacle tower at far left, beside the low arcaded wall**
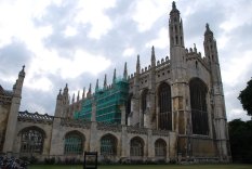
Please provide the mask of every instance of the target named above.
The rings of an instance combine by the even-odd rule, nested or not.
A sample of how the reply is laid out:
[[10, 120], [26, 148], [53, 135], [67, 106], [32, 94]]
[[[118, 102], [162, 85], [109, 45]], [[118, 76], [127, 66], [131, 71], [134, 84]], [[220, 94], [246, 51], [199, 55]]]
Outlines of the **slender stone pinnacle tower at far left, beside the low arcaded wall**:
[[25, 66], [23, 66], [23, 69], [18, 74], [18, 79], [16, 80], [16, 83], [13, 86], [13, 98], [8, 117], [5, 141], [3, 145], [4, 153], [13, 152], [13, 143], [16, 134], [15, 133], [16, 122], [17, 122], [18, 109], [21, 106], [24, 79], [25, 79]]

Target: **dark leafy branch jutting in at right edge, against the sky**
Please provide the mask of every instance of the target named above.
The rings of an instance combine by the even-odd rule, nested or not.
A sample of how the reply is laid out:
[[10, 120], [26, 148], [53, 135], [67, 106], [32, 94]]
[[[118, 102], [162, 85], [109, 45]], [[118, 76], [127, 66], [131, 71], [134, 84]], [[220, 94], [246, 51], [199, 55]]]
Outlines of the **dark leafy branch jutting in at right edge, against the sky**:
[[238, 99], [240, 100], [243, 109], [248, 112], [248, 115], [252, 116], [252, 79], [247, 82], [246, 89], [240, 91]]

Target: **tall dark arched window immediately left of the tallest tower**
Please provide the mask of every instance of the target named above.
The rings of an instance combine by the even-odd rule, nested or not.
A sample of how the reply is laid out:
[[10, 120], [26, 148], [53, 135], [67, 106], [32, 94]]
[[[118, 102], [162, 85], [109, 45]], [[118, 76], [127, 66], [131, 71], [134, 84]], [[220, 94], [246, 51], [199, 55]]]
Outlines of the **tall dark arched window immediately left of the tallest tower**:
[[172, 130], [171, 87], [163, 82], [159, 87], [159, 129]]

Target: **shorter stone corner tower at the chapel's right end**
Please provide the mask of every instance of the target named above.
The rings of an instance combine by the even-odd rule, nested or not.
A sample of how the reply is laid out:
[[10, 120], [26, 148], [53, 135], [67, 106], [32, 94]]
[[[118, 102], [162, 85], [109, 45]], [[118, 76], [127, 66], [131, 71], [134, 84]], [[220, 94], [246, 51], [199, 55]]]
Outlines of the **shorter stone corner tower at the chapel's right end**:
[[227, 130], [227, 118], [225, 100], [222, 84], [221, 68], [218, 63], [217, 46], [209, 24], [205, 25], [204, 32], [204, 54], [208, 58], [211, 70], [211, 109], [213, 112], [213, 123], [216, 136], [218, 156], [221, 160], [230, 160], [229, 136]]

